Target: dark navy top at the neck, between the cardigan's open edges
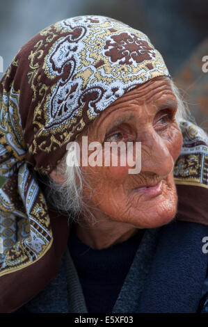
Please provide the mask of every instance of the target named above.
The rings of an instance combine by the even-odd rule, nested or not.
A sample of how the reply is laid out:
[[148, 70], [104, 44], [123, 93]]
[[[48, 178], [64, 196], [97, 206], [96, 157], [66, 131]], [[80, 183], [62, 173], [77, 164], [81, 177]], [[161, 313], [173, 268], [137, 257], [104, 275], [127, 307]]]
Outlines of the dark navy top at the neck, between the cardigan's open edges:
[[121, 244], [89, 248], [72, 231], [68, 246], [77, 269], [88, 312], [112, 312], [144, 230]]

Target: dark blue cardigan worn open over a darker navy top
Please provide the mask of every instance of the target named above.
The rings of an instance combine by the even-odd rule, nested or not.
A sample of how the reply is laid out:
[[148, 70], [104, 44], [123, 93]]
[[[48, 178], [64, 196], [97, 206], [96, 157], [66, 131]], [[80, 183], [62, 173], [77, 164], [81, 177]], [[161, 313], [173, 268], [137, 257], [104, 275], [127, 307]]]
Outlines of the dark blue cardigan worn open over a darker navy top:
[[[112, 263], [111, 268], [106, 268], [107, 275], [105, 276], [109, 276], [109, 280], [104, 279], [100, 274], [102, 269], [99, 264], [97, 269], [95, 260], [87, 257], [86, 253], [89, 254], [91, 249], [86, 248], [86, 253], [78, 253], [78, 262], [81, 260], [83, 268], [81, 269], [81, 279], [88, 276], [96, 301], [95, 303], [94, 299], [90, 298], [90, 292], [85, 289], [88, 280], [82, 281], [88, 312], [208, 312], [208, 279], [205, 280], [208, 254], [202, 252], [202, 239], [207, 234], [208, 227], [205, 225], [173, 221], [162, 228], [146, 230], [134, 255], [133, 250], [126, 252], [126, 248], [129, 246], [129, 242], [131, 244], [132, 241], [134, 244], [134, 239], [136, 242], [135, 235], [127, 243], [118, 244], [120, 250], [117, 255], [122, 260], [114, 260], [115, 262], [113, 262], [113, 255], [110, 255], [109, 260], [105, 255], [102, 260], [98, 258], [98, 262], [101, 262], [104, 268], [107, 264]], [[138, 243], [139, 241], [140, 239], [138, 239]], [[79, 241], [79, 243], [81, 242]], [[136, 242], [136, 244], [138, 243]], [[73, 244], [74, 241], [72, 241], [72, 248], [74, 248]], [[126, 244], [127, 247], [125, 246], [125, 249], [121, 250], [122, 246]], [[133, 244], [132, 248], [134, 248]], [[72, 248], [71, 252], [73, 252]], [[92, 251], [94, 252], [94, 250]], [[95, 250], [100, 255], [102, 255], [102, 251]], [[131, 257], [134, 257], [132, 264], [128, 259], [130, 252]], [[67, 251], [65, 251], [66, 253]], [[52, 280], [38, 296], [31, 299], [17, 312], [87, 312], [85, 305], [83, 305], [83, 292], [79, 287], [79, 277], [76, 275], [77, 271], [74, 269], [74, 264], [72, 264], [74, 258], [72, 260], [69, 256], [63, 256], [56, 279]], [[67, 257], [69, 260], [66, 260]], [[128, 260], [131, 267], [118, 295], [120, 286], [117, 289], [114, 288], [113, 282], [116, 285], [119, 283], [121, 285], [121, 280], [126, 273], [125, 269], [119, 267], [126, 266]], [[93, 271], [92, 276], [89, 276], [88, 264], [93, 267], [91, 269]], [[115, 269], [114, 266], [116, 266]], [[77, 267], [79, 271], [79, 264]], [[123, 271], [123, 275], [119, 269]], [[96, 272], [99, 273], [99, 278]], [[117, 274], [118, 278], [113, 277], [114, 274]], [[109, 292], [106, 291], [104, 285], [109, 285]], [[99, 287], [99, 292], [96, 292], [96, 287]], [[109, 296], [110, 292], [111, 296]], [[118, 296], [116, 301], [115, 292]], [[107, 303], [108, 301], [109, 303]], [[115, 303], [114, 306], [113, 303]]]

